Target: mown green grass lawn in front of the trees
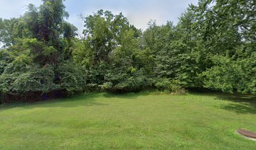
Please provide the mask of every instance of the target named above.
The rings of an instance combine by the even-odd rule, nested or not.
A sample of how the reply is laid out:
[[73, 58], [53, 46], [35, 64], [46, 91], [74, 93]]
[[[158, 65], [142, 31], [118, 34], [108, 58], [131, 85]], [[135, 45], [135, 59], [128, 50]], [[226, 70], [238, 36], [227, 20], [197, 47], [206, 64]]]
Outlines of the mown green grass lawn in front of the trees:
[[252, 96], [82, 94], [0, 106], [0, 149], [255, 149]]

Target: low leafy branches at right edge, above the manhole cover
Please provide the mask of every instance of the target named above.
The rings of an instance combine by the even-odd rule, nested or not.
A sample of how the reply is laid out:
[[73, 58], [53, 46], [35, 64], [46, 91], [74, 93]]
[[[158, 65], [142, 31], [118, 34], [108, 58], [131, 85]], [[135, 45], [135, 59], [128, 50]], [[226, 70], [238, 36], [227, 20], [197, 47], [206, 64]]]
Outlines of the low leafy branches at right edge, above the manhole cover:
[[252, 65], [250, 59], [233, 61], [221, 56], [214, 61], [216, 65], [203, 73], [205, 88], [255, 94], [255, 62]]

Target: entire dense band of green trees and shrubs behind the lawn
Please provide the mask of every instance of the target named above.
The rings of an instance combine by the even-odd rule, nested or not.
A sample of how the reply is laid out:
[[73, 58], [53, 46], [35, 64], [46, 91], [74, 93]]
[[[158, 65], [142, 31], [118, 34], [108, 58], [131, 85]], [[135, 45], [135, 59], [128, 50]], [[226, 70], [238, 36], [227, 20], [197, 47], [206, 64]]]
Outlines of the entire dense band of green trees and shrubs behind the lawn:
[[[43, 0], [0, 19], [0, 93], [112, 92], [208, 88], [256, 94], [256, 4], [200, 0], [178, 24], [142, 31], [122, 13], [82, 17], [83, 37], [65, 21], [63, 0]], [[7, 96], [7, 97], [6, 97]]]

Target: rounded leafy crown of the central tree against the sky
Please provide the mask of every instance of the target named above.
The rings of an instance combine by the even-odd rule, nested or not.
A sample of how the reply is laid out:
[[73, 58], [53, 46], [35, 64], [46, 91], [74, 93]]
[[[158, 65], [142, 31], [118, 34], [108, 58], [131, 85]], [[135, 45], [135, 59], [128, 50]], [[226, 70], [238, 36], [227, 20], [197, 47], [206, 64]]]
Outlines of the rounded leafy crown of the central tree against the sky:
[[126, 47], [129, 44], [134, 44], [135, 42], [131, 42], [129, 39], [136, 40], [135, 36], [139, 32], [135, 27], [129, 25], [122, 13], [114, 16], [110, 11], [100, 10], [85, 17], [84, 21], [83, 33], [92, 50], [90, 57], [96, 64], [100, 61], [109, 63], [114, 49], [119, 45]]

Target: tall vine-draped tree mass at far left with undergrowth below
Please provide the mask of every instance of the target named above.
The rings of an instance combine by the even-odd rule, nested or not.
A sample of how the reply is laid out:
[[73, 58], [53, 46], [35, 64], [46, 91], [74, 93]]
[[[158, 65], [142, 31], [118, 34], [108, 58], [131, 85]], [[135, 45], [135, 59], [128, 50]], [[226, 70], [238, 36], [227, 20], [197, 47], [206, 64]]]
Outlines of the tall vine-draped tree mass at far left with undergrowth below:
[[65, 49], [77, 29], [65, 22], [65, 17], [68, 14], [63, 1], [45, 0], [39, 8], [29, 4], [28, 11], [19, 18], [1, 19], [1, 42], [6, 47], [0, 52], [1, 93], [29, 96], [71, 89], [61, 83], [70, 79], [63, 76], [68, 69], [60, 71], [59, 66], [67, 67]]

